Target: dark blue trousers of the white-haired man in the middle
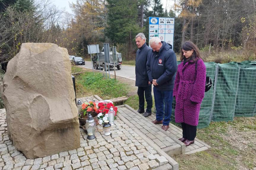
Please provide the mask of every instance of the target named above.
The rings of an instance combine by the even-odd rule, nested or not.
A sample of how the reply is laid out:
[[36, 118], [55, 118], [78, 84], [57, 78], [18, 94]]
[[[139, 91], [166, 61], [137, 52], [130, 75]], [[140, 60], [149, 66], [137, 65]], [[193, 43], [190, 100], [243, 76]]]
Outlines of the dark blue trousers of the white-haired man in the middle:
[[153, 91], [156, 108], [156, 120], [161, 121], [163, 120], [164, 116], [163, 125], [169, 125], [171, 122], [173, 90], [161, 91], [154, 87]]

